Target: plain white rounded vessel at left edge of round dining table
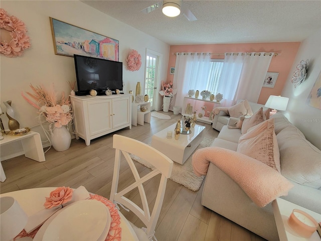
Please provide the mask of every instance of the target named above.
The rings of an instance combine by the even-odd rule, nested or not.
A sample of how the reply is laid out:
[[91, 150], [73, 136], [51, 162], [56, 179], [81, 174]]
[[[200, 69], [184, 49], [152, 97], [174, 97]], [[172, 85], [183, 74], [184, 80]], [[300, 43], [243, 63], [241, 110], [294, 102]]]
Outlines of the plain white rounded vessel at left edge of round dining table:
[[0, 240], [13, 240], [26, 226], [28, 216], [13, 197], [0, 197]]

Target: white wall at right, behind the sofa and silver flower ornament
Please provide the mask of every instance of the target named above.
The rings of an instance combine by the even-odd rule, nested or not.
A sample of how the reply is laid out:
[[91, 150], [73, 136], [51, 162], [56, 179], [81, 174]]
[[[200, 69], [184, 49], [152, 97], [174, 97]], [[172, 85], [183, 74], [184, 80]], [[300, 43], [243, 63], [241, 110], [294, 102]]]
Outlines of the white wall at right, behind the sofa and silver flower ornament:
[[[309, 60], [307, 78], [294, 88], [291, 83], [296, 65], [301, 60]], [[287, 77], [282, 96], [289, 97], [285, 115], [318, 149], [321, 149], [321, 110], [311, 107], [307, 97], [321, 70], [321, 29], [301, 42], [293, 66]], [[319, 97], [320, 98], [320, 97]]]

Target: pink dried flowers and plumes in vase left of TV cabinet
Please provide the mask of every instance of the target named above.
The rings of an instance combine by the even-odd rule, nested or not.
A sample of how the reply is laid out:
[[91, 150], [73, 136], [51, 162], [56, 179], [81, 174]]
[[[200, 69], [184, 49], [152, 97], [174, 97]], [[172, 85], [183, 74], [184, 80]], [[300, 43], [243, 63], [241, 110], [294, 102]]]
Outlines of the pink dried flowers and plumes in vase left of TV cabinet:
[[23, 92], [22, 96], [32, 106], [39, 110], [39, 114], [46, 118], [46, 121], [53, 123], [55, 127], [60, 128], [66, 126], [72, 119], [69, 97], [65, 100], [65, 94], [62, 93], [60, 100], [57, 100], [56, 91], [52, 89], [47, 90], [44, 86], [34, 87], [30, 85], [34, 94], [27, 92], [27, 94], [34, 99], [36, 103], [31, 101]]

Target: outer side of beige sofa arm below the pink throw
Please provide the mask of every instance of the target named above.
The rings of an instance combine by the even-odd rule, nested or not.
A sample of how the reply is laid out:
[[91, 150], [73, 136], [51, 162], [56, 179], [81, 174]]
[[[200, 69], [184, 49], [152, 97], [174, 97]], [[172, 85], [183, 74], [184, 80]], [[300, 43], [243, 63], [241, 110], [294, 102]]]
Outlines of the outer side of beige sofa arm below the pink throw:
[[213, 163], [206, 175], [201, 203], [267, 240], [279, 240], [272, 205], [255, 205], [242, 188]]

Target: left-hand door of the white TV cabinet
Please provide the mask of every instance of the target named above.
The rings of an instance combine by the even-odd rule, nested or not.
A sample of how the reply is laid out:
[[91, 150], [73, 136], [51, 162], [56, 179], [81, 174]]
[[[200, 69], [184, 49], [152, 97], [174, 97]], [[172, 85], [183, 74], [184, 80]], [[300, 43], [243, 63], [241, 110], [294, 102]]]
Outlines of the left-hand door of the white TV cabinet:
[[111, 129], [111, 100], [89, 101], [89, 134], [94, 136]]

